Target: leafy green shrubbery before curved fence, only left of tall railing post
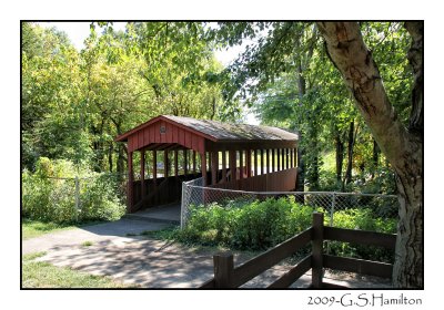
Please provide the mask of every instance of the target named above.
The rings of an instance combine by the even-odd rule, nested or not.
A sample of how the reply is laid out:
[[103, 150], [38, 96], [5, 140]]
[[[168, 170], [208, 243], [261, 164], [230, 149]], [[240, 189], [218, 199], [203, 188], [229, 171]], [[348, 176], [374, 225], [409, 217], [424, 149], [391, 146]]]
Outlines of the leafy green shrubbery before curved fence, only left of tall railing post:
[[307, 228], [312, 211], [293, 197], [192, 207], [179, 239], [235, 249], [265, 249]]

